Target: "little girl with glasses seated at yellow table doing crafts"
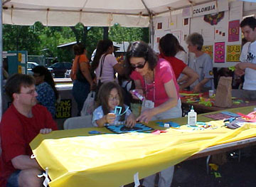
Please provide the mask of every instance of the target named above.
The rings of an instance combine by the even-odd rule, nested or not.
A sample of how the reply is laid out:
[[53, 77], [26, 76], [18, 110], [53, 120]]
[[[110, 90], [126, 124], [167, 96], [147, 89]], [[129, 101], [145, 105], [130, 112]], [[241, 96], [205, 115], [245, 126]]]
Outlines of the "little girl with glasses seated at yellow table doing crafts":
[[[115, 107], [122, 107], [120, 114], [114, 114]], [[106, 82], [100, 87], [92, 124], [104, 127], [105, 124], [116, 125], [120, 122], [125, 122], [127, 127], [132, 128], [136, 124], [136, 117], [124, 105], [121, 87], [115, 82]]]

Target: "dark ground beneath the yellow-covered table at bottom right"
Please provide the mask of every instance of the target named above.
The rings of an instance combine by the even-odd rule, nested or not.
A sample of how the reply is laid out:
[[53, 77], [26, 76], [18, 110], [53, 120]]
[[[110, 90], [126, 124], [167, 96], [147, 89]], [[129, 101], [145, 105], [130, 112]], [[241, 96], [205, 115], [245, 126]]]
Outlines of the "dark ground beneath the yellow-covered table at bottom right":
[[225, 163], [219, 165], [216, 171], [217, 176], [213, 171], [210, 171], [209, 175], [206, 173], [206, 157], [177, 164], [171, 187], [255, 187], [255, 148], [242, 149], [240, 162], [238, 162], [238, 151], [233, 153], [226, 154]]

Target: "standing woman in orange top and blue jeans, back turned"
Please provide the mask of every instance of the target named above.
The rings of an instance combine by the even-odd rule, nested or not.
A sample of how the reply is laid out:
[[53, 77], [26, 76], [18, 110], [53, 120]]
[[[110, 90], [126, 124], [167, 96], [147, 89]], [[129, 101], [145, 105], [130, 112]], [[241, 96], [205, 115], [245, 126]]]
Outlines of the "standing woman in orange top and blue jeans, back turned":
[[[90, 90], [95, 89], [95, 82], [90, 73], [90, 64], [87, 59], [85, 46], [82, 43], [78, 43], [73, 47], [75, 53], [75, 60], [70, 73], [70, 78], [73, 82], [73, 97], [75, 102], [78, 104], [78, 116], [82, 110], [82, 106], [89, 94]], [[77, 73], [78, 68], [80, 69], [82, 76], [85, 80], [78, 80]]]

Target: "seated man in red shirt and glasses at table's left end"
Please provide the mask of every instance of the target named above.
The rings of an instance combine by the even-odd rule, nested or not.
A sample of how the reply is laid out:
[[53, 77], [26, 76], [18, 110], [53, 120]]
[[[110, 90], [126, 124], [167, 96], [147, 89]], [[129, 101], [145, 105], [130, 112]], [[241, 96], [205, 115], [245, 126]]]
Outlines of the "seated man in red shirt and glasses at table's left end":
[[29, 143], [39, 133], [48, 134], [57, 126], [46, 107], [37, 105], [33, 77], [15, 74], [6, 82], [5, 89], [12, 103], [0, 124], [0, 186], [42, 186], [37, 175], [43, 169], [36, 159], [30, 158]]

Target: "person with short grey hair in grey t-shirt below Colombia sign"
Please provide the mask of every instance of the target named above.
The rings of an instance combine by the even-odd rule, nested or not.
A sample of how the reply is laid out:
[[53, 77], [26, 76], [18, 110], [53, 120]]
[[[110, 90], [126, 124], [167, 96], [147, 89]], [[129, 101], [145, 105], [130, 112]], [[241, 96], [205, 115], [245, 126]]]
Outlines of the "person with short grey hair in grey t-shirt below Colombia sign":
[[187, 37], [186, 43], [188, 43], [188, 51], [196, 55], [195, 59], [188, 62], [188, 67], [199, 75], [199, 79], [191, 85], [193, 92], [213, 90], [213, 60], [210, 55], [202, 51], [203, 36], [199, 33], [192, 33]]

